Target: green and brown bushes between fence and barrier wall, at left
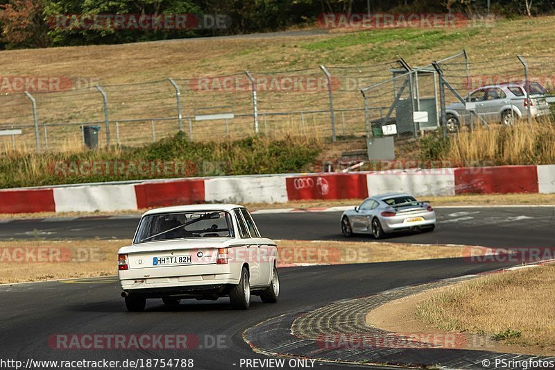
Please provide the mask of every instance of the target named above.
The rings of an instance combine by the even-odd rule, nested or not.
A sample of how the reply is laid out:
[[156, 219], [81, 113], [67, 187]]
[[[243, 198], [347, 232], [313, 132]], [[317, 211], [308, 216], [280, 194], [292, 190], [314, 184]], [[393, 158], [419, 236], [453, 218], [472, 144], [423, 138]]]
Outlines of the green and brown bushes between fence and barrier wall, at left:
[[[73, 153], [6, 153], [0, 158], [0, 187], [25, 187], [72, 183], [96, 183], [148, 178], [276, 174], [302, 172], [321, 152], [317, 142], [296, 137], [269, 140], [247, 137], [233, 142], [189, 142], [178, 133], [141, 148], [112, 148]], [[137, 164], [147, 163], [147, 170]], [[99, 165], [83, 171], [80, 164]], [[114, 163], [125, 169], [114, 169]], [[180, 166], [175, 173], [163, 164]], [[108, 170], [107, 165], [112, 166]], [[122, 165], [123, 164], [123, 165]], [[133, 167], [135, 166], [135, 167]], [[142, 167], [145, 168], [145, 167]]]

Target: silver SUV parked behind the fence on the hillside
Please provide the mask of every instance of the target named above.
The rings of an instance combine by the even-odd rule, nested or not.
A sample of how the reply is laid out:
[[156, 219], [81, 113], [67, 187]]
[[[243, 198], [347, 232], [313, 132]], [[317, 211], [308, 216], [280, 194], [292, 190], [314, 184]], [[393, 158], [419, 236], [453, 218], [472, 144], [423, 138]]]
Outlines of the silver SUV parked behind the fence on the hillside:
[[[549, 115], [546, 94], [540, 83], [530, 83], [531, 117]], [[470, 110], [474, 110], [488, 124], [501, 122], [512, 125], [515, 119], [528, 117], [528, 102], [523, 82], [482, 86], [466, 96], [465, 100], [466, 105], [459, 102], [445, 107], [447, 131], [459, 131], [461, 124], [470, 125], [472, 119], [477, 119]]]

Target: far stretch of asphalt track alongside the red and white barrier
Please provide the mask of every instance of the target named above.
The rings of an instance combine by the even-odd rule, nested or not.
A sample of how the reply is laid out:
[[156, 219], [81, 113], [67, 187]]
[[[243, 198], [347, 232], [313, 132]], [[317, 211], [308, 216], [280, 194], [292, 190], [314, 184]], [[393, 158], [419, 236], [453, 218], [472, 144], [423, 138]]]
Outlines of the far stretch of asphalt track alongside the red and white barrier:
[[[436, 209], [433, 233], [388, 237], [388, 242], [471, 244], [495, 247], [555, 246], [555, 207]], [[254, 214], [264, 236], [273, 239], [344, 240], [341, 212]], [[137, 218], [87, 218], [64, 221], [20, 220], [0, 224], [0, 239], [131, 239]], [[372, 240], [362, 235], [352, 240]]]

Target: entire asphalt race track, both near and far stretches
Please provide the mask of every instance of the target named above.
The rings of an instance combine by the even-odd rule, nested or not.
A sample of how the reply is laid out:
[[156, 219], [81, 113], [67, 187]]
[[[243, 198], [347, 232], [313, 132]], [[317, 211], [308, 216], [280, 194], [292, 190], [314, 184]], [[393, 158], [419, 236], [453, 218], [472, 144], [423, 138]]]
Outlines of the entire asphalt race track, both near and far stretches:
[[[554, 246], [555, 208], [442, 208], [434, 233], [399, 235], [391, 242], [478, 244], [484, 246]], [[275, 239], [343, 239], [336, 212], [255, 215], [264, 235]], [[10, 221], [0, 224], [0, 238], [130, 238], [137, 219]], [[371, 237], [355, 239], [371, 240]], [[265, 305], [258, 297], [248, 311], [234, 311], [228, 298], [183, 301], [177, 307], [160, 300], [145, 312], [126, 312], [116, 278], [0, 286], [0, 358], [33, 360], [137, 360], [192, 358], [194, 369], [246, 369], [241, 359], [267, 359], [244, 342], [241, 333], [266, 319], [290, 311], [311, 310], [343, 298], [387, 289], [477, 274], [506, 263], [477, 263], [463, 258], [280, 269], [280, 301]], [[198, 338], [187, 350], [58, 349], [57, 334], [183, 334]], [[219, 341], [219, 348], [214, 342]], [[51, 342], [50, 342], [51, 343]], [[201, 348], [204, 347], [204, 348]], [[208, 348], [207, 348], [208, 347]], [[287, 364], [287, 362], [286, 362]], [[316, 369], [354, 365], [319, 364]], [[41, 369], [44, 369], [43, 367]], [[289, 367], [284, 367], [288, 369]], [[364, 366], [365, 369], [371, 368]], [[296, 367], [300, 369], [300, 367]]]

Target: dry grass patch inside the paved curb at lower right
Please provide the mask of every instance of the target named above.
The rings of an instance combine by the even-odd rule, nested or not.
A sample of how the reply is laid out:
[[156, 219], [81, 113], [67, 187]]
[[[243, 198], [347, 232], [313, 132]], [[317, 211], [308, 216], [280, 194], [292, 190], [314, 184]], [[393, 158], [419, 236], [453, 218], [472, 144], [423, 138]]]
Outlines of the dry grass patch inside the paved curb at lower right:
[[417, 317], [447, 331], [555, 349], [555, 265], [484, 276], [438, 292]]

